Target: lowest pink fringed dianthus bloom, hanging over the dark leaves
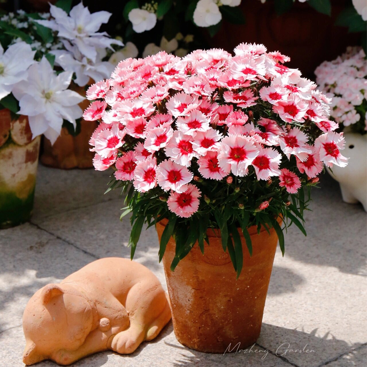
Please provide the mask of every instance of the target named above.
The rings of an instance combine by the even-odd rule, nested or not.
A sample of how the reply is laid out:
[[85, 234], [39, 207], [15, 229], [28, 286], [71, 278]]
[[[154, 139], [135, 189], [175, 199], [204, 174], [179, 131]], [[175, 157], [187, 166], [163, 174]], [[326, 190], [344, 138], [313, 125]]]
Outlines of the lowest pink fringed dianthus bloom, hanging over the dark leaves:
[[199, 209], [201, 191], [193, 184], [188, 184], [186, 191], [171, 192], [167, 200], [168, 209], [181, 218], [189, 218]]

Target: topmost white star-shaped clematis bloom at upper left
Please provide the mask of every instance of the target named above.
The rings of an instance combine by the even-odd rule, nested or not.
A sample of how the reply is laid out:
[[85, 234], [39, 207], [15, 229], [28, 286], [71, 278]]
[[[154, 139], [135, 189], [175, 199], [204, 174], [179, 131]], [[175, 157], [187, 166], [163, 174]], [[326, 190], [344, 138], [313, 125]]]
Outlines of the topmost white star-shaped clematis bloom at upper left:
[[112, 44], [123, 46], [120, 41], [106, 37], [108, 36], [106, 32], [97, 33], [100, 26], [107, 23], [111, 17], [111, 13], [107, 11], [91, 14], [88, 7], [84, 7], [80, 2], [70, 10], [69, 16], [64, 10], [54, 5], [50, 5], [50, 12], [54, 19], [36, 20], [35, 22], [57, 31], [59, 37], [68, 39], [93, 62], [97, 57], [96, 48], [112, 48]]

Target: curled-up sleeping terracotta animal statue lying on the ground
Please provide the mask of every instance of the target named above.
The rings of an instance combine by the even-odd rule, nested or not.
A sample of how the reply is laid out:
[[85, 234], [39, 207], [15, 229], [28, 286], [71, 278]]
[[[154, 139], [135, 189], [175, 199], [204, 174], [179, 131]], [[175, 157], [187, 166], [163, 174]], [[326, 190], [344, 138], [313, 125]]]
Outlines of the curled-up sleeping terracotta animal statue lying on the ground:
[[170, 319], [168, 296], [149, 269], [130, 259], [99, 259], [29, 300], [23, 362], [69, 365], [107, 349], [129, 354]]

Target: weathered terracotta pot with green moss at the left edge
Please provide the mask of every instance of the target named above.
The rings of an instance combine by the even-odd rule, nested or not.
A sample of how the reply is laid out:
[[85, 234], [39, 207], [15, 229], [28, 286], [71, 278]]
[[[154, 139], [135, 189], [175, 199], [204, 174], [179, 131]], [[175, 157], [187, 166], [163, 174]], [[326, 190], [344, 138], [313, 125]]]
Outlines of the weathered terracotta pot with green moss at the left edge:
[[11, 120], [9, 110], [0, 111], [0, 229], [30, 219], [40, 137], [32, 140], [27, 116]]

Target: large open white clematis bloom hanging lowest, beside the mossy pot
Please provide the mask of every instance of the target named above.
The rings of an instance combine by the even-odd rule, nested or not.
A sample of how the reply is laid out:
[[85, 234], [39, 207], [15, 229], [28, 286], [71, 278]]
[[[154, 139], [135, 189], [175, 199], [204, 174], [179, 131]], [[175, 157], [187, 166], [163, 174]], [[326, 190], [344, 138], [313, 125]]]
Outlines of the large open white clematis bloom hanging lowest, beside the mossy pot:
[[27, 74], [27, 79], [13, 88], [21, 107], [18, 114], [28, 116], [33, 138], [45, 134], [53, 144], [64, 119], [76, 126], [75, 119], [83, 115], [78, 103], [85, 98], [68, 90], [72, 72], [64, 71], [56, 76], [45, 57], [33, 64]]

